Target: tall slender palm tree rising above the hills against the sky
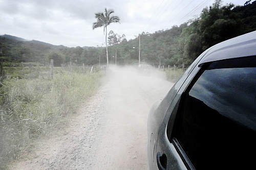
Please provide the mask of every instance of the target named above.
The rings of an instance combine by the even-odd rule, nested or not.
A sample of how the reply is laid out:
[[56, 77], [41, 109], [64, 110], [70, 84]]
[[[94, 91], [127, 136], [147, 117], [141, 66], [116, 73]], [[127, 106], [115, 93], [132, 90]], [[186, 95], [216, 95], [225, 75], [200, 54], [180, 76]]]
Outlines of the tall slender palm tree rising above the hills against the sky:
[[[108, 32], [106, 31], [106, 27], [110, 25], [112, 22], [119, 22], [120, 18], [118, 16], [111, 16], [114, 13], [114, 10], [105, 8], [104, 12], [95, 13], [95, 18], [97, 19], [96, 22], [93, 23], [93, 30], [98, 27], [103, 27], [105, 33], [105, 43], [106, 43], [106, 36]], [[108, 54], [108, 44], [106, 43], [106, 67], [109, 67], [109, 54]]]

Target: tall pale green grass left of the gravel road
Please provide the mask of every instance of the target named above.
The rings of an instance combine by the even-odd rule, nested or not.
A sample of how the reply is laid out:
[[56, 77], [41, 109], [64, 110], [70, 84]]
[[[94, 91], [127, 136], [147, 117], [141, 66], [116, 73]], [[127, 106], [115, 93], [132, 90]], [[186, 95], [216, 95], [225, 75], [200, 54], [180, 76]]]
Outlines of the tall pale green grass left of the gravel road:
[[32, 141], [47, 135], [64, 116], [99, 87], [101, 72], [82, 74], [56, 68], [13, 68], [0, 88], [0, 169], [29, 151]]

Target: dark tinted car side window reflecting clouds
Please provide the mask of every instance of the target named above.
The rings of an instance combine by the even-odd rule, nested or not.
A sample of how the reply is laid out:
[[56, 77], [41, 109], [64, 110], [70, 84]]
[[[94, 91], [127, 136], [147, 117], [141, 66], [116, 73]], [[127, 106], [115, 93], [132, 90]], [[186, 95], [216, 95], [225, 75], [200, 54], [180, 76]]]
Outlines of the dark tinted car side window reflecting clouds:
[[196, 169], [252, 165], [255, 63], [255, 57], [212, 62], [184, 93], [174, 138]]

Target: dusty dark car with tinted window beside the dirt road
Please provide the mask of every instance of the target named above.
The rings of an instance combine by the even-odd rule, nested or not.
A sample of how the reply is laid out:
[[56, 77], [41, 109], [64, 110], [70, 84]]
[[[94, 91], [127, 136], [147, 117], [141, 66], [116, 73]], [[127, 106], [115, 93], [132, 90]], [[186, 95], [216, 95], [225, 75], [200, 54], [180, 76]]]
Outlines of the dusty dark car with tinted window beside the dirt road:
[[256, 31], [204, 51], [152, 107], [150, 169], [255, 169]]

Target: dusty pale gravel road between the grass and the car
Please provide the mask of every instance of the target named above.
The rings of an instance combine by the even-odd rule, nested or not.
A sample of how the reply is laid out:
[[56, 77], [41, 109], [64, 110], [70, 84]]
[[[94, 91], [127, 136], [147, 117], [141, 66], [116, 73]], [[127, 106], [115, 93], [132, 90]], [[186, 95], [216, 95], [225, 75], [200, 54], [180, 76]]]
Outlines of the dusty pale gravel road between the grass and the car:
[[172, 83], [154, 71], [112, 67], [96, 95], [12, 169], [147, 169], [146, 123]]

